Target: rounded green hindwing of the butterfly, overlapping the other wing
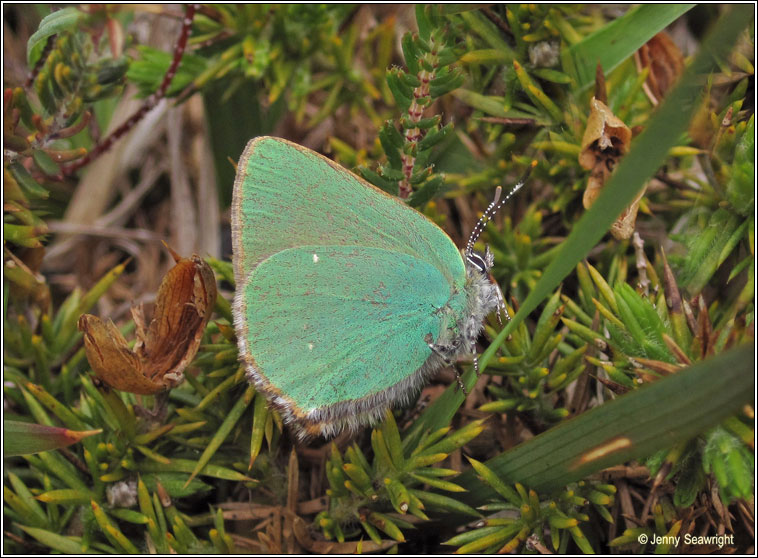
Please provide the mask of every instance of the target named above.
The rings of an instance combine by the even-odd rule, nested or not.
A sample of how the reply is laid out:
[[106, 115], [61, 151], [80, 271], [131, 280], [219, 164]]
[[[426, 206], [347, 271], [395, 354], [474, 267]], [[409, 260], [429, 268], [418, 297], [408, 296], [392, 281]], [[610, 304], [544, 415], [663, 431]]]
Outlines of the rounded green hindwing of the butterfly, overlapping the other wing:
[[376, 394], [415, 372], [452, 292], [428, 262], [362, 246], [281, 251], [241, 287], [258, 372], [306, 413]]

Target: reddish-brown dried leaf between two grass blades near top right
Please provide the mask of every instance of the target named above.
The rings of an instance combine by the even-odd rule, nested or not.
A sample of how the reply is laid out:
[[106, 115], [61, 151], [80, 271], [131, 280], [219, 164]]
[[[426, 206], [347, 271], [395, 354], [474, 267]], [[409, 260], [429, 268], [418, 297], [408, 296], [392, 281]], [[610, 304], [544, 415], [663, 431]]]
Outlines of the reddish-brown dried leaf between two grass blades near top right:
[[650, 68], [642, 88], [657, 105], [666, 92], [679, 79], [684, 71], [684, 56], [665, 31], [661, 31], [634, 53], [637, 71]]

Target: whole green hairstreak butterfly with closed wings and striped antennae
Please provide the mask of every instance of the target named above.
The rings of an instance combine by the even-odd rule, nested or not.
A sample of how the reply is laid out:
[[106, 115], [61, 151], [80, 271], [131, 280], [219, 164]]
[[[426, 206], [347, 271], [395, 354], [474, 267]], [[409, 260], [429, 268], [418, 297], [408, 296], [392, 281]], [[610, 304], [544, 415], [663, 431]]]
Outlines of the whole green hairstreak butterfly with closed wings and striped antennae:
[[519, 186], [496, 197], [461, 253], [424, 215], [326, 157], [251, 140], [231, 216], [248, 379], [303, 438], [407, 402], [443, 364], [474, 353], [484, 318], [504, 308], [492, 254], [473, 245]]

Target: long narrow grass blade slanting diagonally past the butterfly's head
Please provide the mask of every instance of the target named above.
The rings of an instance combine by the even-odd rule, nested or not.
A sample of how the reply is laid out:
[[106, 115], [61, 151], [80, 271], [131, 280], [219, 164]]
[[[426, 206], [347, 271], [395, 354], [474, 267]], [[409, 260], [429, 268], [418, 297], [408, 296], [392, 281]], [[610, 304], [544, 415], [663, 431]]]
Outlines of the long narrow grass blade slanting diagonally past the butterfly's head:
[[[703, 75], [715, 66], [716, 59], [723, 58], [730, 51], [740, 32], [752, 20], [751, 6], [734, 5], [714, 25], [700, 52], [650, 119], [645, 130], [632, 143], [631, 151], [621, 160], [595, 204], [579, 219], [513, 319], [484, 351], [479, 360], [480, 369], [486, 368], [506, 337], [541, 301], [550, 296], [560, 282], [595, 247], [616, 217], [631, 203], [644, 182], [665, 161], [669, 148], [686, 130], [697, 106]], [[462, 379], [467, 389], [473, 389], [476, 380], [473, 369], [468, 370]], [[425, 430], [437, 430], [447, 426], [463, 400], [463, 393], [458, 386], [451, 385], [427, 407], [413, 425], [412, 433], [408, 435], [420, 436]]]

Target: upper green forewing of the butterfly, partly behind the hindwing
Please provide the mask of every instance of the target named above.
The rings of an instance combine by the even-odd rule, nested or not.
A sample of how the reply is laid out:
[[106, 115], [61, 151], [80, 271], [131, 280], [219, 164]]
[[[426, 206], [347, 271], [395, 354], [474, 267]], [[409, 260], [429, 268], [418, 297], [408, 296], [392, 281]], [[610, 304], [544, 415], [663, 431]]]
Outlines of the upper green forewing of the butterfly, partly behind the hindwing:
[[238, 284], [272, 254], [305, 245], [385, 248], [429, 262], [451, 285], [465, 277], [455, 244], [424, 215], [279, 138], [255, 138], [245, 148], [231, 221]]

